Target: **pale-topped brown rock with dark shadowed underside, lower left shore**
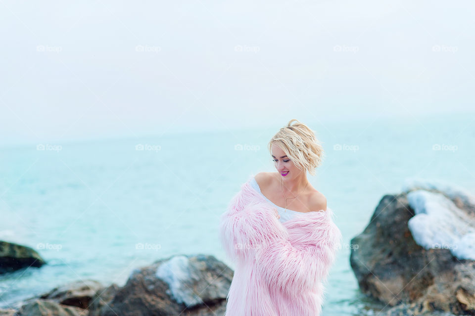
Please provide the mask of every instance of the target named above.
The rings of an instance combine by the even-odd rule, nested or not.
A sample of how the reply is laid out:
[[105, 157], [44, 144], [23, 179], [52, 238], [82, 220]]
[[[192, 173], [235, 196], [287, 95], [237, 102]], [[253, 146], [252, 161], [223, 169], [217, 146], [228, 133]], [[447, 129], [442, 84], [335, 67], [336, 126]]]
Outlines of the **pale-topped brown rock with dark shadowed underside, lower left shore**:
[[80, 280], [56, 287], [50, 292], [41, 295], [40, 298], [49, 299], [63, 305], [87, 309], [97, 291], [103, 288], [102, 284], [95, 280]]

